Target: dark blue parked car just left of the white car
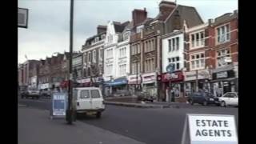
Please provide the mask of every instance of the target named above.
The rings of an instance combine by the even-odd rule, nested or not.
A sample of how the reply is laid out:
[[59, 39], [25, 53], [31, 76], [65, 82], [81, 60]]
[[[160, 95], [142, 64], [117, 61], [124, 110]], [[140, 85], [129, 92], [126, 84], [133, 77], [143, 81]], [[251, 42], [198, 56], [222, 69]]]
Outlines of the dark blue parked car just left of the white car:
[[219, 105], [219, 101], [217, 97], [214, 97], [213, 94], [205, 93], [205, 92], [197, 92], [190, 95], [188, 98], [188, 102], [191, 105], [194, 103], [202, 104], [203, 106], [207, 106], [208, 104]]

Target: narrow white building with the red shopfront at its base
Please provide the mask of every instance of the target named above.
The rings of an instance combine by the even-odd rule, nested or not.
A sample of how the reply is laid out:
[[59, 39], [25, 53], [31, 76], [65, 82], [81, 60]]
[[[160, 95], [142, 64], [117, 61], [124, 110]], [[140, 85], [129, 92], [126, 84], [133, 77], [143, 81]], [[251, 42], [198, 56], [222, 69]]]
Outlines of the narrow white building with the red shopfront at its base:
[[[184, 33], [174, 30], [162, 36], [162, 80], [163, 87], [174, 91], [175, 98], [180, 97], [182, 88], [182, 70], [184, 68]], [[166, 67], [173, 64], [172, 74], [167, 73]], [[166, 98], [166, 101], [170, 101]]]

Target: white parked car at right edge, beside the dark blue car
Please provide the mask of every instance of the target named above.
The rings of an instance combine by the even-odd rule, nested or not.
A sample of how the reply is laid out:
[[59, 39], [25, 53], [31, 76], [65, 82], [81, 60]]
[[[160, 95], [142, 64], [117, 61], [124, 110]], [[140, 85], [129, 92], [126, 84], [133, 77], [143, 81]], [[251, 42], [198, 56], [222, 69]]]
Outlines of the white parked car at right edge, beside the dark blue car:
[[235, 92], [227, 92], [218, 98], [220, 106], [238, 106], [238, 94]]

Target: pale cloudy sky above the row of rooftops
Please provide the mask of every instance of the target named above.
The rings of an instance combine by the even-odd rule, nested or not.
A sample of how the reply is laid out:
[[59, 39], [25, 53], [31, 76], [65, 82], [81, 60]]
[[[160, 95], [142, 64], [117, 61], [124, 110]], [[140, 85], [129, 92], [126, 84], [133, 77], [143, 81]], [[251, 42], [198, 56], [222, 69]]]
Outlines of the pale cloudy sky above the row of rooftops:
[[[175, 0], [167, 0], [174, 2]], [[131, 21], [132, 10], [144, 9], [149, 18], [158, 14], [161, 0], [74, 0], [74, 51], [97, 33], [98, 25], [110, 20]], [[202, 20], [238, 10], [238, 0], [177, 0], [194, 6]], [[18, 0], [29, 9], [28, 28], [18, 28], [18, 63], [45, 59], [70, 49], [70, 0]], [[26, 57], [25, 57], [26, 55]]]

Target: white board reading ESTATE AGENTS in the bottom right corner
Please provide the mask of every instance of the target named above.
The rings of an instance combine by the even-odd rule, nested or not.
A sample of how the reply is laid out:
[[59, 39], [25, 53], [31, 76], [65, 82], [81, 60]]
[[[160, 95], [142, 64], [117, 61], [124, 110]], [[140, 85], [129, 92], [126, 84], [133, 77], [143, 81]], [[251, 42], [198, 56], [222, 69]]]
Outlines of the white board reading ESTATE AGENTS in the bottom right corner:
[[182, 144], [238, 144], [234, 115], [187, 114]]

